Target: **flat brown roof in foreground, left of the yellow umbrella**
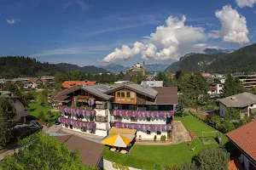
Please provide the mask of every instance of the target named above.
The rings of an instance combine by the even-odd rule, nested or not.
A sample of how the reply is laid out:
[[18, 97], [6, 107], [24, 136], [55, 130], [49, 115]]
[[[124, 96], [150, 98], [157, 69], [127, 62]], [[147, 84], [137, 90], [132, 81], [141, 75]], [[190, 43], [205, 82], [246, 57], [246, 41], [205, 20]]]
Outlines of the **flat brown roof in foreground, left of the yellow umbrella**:
[[97, 167], [102, 157], [103, 145], [76, 135], [56, 136], [61, 143], [67, 144], [70, 150], [80, 150], [85, 165]]

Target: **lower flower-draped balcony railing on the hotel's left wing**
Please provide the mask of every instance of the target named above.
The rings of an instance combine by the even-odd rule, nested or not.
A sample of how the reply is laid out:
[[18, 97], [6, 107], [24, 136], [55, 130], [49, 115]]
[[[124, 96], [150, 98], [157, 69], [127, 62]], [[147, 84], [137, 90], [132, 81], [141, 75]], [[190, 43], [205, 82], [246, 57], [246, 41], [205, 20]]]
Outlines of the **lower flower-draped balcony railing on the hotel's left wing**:
[[59, 122], [67, 125], [73, 125], [77, 127], [87, 127], [87, 128], [95, 128], [96, 122], [84, 122], [84, 121], [76, 121], [73, 119], [65, 118], [64, 116], [59, 117]]

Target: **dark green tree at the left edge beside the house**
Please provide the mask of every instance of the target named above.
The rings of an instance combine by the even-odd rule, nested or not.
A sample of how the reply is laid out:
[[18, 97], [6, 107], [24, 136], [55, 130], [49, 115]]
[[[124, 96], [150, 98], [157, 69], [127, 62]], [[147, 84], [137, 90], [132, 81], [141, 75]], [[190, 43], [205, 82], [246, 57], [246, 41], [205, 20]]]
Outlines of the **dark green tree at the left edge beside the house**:
[[0, 97], [0, 145], [5, 145], [14, 137], [14, 127], [16, 125], [14, 105], [7, 98]]

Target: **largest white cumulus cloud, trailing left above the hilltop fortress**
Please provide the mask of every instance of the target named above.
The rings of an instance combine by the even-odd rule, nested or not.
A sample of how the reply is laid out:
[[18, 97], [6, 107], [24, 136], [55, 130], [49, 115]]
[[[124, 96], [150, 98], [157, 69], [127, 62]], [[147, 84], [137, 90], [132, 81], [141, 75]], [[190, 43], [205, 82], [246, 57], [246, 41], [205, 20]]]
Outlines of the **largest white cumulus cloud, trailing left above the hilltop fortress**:
[[186, 26], [185, 21], [184, 15], [181, 19], [170, 16], [165, 25], [157, 26], [156, 31], [147, 36], [146, 43], [135, 42], [132, 48], [125, 45], [120, 49], [115, 48], [102, 61], [115, 62], [136, 55], [140, 55], [142, 59], [177, 59], [190, 52], [189, 50], [198, 50], [199, 48], [194, 48], [194, 45], [206, 38], [205, 29], [199, 26]]

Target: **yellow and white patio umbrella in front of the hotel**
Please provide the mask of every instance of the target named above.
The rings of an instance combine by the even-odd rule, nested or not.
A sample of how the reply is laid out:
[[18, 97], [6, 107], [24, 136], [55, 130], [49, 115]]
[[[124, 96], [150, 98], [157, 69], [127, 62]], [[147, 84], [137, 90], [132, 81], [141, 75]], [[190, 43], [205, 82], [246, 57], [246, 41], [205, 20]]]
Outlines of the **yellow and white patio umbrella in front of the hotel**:
[[[130, 136], [129, 136], [130, 137]], [[102, 140], [102, 144], [107, 144], [115, 147], [123, 147], [126, 148], [128, 144], [131, 143], [133, 138], [127, 138], [125, 135], [122, 134], [112, 134], [108, 136], [107, 139]]]

